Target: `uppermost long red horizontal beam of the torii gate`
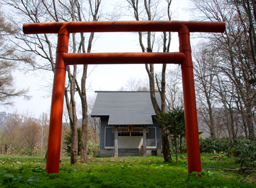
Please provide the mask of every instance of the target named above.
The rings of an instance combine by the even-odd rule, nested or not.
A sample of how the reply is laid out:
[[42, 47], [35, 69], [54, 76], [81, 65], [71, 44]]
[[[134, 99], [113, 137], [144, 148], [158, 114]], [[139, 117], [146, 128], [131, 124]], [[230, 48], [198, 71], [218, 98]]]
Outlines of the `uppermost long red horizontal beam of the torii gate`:
[[71, 21], [25, 23], [24, 34], [57, 34], [65, 26], [69, 33], [81, 32], [178, 32], [186, 26], [189, 32], [224, 32], [224, 22], [212, 21]]

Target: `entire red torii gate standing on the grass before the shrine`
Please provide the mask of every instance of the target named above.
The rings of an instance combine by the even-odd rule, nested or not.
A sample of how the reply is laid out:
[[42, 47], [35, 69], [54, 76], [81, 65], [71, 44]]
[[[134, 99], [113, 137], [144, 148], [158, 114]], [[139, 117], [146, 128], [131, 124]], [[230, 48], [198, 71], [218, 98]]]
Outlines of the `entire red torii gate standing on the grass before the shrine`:
[[[68, 64], [181, 64], [187, 162], [189, 173], [201, 172], [197, 108], [189, 32], [224, 32], [224, 22], [206, 21], [79, 21], [25, 23], [24, 34], [58, 34], [47, 149], [47, 173], [59, 173], [65, 75]], [[77, 32], [178, 32], [179, 51], [169, 53], [68, 53], [69, 33]]]

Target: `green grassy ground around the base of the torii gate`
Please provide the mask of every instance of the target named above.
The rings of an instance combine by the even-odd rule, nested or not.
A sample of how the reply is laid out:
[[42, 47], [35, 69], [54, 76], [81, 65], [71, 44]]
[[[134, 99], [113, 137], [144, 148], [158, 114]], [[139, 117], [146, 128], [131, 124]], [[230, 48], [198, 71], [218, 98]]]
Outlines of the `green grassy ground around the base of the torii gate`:
[[[42, 156], [0, 155], [0, 187], [256, 187], [255, 172], [246, 178], [235, 158], [201, 154], [202, 177], [187, 174], [187, 155], [164, 163], [162, 156], [89, 157], [88, 164], [70, 164], [64, 157], [59, 174], [48, 175]], [[174, 160], [174, 156], [173, 156]], [[213, 169], [213, 170], [212, 170]]]

